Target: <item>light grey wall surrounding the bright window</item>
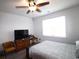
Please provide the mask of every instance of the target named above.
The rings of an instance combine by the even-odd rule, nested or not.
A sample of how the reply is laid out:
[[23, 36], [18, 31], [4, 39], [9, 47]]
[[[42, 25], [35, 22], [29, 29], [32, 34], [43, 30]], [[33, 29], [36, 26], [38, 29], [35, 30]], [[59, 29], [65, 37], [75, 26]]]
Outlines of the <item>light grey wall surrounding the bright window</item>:
[[[59, 16], [66, 16], [66, 38], [46, 37], [42, 35], [42, 20], [55, 18]], [[79, 40], [79, 7], [69, 8], [50, 15], [34, 18], [35, 35], [41, 40], [53, 40], [65, 43], [75, 43]]]

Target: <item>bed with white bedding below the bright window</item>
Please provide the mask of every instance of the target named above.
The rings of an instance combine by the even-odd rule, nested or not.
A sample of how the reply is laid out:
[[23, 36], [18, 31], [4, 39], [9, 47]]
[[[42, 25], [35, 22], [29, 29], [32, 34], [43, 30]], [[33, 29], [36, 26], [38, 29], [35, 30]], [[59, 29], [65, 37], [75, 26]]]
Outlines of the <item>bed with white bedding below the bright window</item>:
[[75, 45], [44, 41], [30, 48], [32, 59], [75, 59]]

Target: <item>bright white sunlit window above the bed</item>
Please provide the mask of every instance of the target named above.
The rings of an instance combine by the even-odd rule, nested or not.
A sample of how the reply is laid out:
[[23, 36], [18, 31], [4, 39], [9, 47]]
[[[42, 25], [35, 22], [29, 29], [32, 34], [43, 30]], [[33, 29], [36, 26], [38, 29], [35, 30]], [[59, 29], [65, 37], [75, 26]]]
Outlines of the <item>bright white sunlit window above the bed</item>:
[[43, 35], [54, 37], [66, 37], [65, 16], [43, 20]]

